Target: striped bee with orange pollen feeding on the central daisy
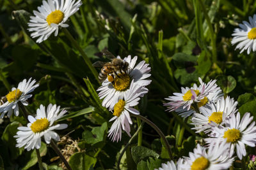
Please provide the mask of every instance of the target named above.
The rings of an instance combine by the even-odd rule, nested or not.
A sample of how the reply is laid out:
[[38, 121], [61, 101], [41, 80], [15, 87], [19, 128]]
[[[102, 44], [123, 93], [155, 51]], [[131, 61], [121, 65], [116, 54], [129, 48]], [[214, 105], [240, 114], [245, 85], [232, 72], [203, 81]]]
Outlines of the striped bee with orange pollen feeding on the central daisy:
[[111, 62], [102, 62], [102, 61], [97, 61], [93, 63], [94, 67], [102, 67], [99, 73], [99, 80], [102, 83], [106, 78], [108, 77], [108, 81], [113, 83], [114, 81], [114, 74], [115, 76], [118, 76], [117, 72], [120, 72], [121, 74], [126, 73], [129, 63], [125, 62], [122, 59], [117, 59], [115, 55], [113, 55], [111, 52], [108, 50], [102, 50], [103, 55], [105, 55], [108, 59], [111, 59]]

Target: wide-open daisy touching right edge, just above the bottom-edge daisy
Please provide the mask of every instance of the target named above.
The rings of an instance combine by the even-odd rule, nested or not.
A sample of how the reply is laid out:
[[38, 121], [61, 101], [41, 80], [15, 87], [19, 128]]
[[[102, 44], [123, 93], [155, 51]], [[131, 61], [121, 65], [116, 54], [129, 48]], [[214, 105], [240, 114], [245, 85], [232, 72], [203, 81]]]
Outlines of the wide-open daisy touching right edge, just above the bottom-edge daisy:
[[226, 119], [225, 127], [212, 127], [212, 133], [209, 134], [211, 138], [206, 138], [205, 141], [206, 143], [215, 143], [216, 139], [220, 139], [223, 143], [228, 143], [230, 155], [233, 155], [236, 147], [237, 157], [241, 160], [246, 155], [245, 145], [255, 147], [255, 122], [252, 122], [253, 117], [250, 117], [250, 113], [245, 113], [241, 121], [239, 112]]

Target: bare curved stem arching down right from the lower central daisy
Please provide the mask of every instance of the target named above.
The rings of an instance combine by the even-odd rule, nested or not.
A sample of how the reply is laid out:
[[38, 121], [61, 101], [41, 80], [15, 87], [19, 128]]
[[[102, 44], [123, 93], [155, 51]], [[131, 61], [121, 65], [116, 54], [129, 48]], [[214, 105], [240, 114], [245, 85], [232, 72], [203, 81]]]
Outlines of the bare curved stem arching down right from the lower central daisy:
[[147, 118], [141, 116], [141, 115], [134, 115], [131, 114], [132, 117], [136, 117], [136, 118], [140, 118], [140, 120], [142, 120], [143, 122], [147, 123], [148, 125], [150, 125], [151, 127], [153, 127], [153, 129], [155, 129], [155, 131], [159, 134], [159, 136], [163, 139], [164, 141], [164, 145], [166, 147], [166, 150], [168, 151], [169, 157], [172, 160], [172, 150], [170, 149], [169, 143], [167, 141], [167, 139], [165, 138], [163, 132], [159, 129], [159, 127], [157, 127], [157, 125], [155, 125], [153, 122], [151, 122], [150, 120], [148, 120]]

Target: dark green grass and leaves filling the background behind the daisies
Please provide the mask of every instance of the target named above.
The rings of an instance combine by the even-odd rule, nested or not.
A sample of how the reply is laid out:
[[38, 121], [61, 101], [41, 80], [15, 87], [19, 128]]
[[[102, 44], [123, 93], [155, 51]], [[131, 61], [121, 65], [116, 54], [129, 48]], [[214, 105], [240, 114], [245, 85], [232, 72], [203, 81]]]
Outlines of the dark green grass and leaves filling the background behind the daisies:
[[[60, 120], [68, 128], [58, 133], [76, 141], [69, 159], [72, 168], [116, 169], [130, 138], [123, 134], [122, 141], [113, 143], [106, 137], [112, 116], [95, 92], [100, 85], [63, 31], [40, 44], [29, 38], [29, 15], [41, 4], [40, 0], [0, 1], [0, 95], [8, 93], [4, 78], [13, 87], [24, 78], [35, 78], [40, 87], [27, 108], [35, 113], [40, 104], [52, 103], [68, 110]], [[107, 61], [100, 52], [108, 48], [122, 58], [138, 55], [138, 60], [150, 64], [152, 83], [138, 108], [168, 136], [177, 159], [188, 155], [201, 138], [188, 120], [164, 112], [164, 97], [197, 83], [198, 76], [205, 82], [218, 79], [225, 95], [238, 99], [242, 114], [256, 114], [255, 54], [239, 54], [230, 43], [234, 28], [255, 9], [252, 0], [83, 0], [68, 20], [68, 31], [91, 62]], [[131, 134], [138, 128], [136, 119], [133, 122]], [[26, 125], [21, 114], [1, 122], [0, 169], [38, 168], [35, 151], [15, 148], [13, 135], [19, 125]], [[67, 141], [58, 146], [65, 149], [65, 145]], [[51, 147], [43, 143], [40, 153], [45, 169], [61, 169]], [[120, 167], [154, 169], [167, 160], [159, 136], [144, 124], [142, 146], [134, 139]]]

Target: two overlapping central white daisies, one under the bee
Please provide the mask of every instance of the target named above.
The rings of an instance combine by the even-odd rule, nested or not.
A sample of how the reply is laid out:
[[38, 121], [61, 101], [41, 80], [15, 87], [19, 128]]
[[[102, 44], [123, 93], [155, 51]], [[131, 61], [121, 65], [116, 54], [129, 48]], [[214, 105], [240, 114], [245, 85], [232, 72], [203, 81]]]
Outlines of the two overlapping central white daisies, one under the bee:
[[[120, 59], [120, 56], [117, 57]], [[122, 130], [130, 134], [130, 125], [132, 120], [131, 114], [139, 115], [140, 112], [133, 108], [137, 106], [140, 97], [147, 94], [147, 85], [151, 80], [147, 80], [151, 74], [149, 64], [142, 60], [136, 65], [137, 56], [131, 59], [131, 55], [125, 57], [123, 62], [129, 63], [129, 68], [125, 73], [117, 72], [114, 81], [108, 81], [108, 78], [102, 82], [102, 86], [97, 89], [99, 91], [100, 99], [103, 99], [102, 106], [108, 108], [113, 113], [113, 118], [109, 121], [115, 120], [109, 129], [108, 137], [112, 141], [120, 141], [122, 137]]]

